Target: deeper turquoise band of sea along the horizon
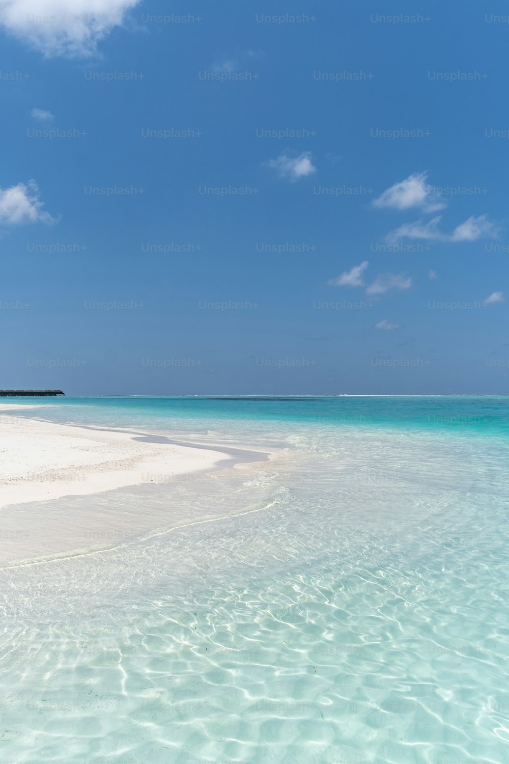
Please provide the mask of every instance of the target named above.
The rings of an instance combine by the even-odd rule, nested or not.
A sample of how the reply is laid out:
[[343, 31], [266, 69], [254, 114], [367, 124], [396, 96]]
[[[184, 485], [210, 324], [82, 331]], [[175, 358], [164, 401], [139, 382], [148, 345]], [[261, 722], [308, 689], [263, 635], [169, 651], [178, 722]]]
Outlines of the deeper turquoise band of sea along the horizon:
[[197, 419], [275, 420], [333, 425], [474, 426], [509, 431], [509, 396], [359, 396], [359, 397], [84, 397], [5, 399], [43, 404], [44, 418], [67, 422], [150, 423]]

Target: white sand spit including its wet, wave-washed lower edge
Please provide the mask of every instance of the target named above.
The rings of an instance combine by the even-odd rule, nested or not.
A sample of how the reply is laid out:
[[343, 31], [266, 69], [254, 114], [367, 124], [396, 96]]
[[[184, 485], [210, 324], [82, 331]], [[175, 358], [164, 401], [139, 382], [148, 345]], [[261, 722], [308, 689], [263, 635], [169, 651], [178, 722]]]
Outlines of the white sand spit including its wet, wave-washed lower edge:
[[[150, 436], [137, 439], [143, 433], [27, 416], [28, 409], [34, 417], [43, 416], [43, 408], [0, 403], [0, 565], [108, 549], [196, 520], [204, 512], [199, 502], [182, 514], [172, 500], [179, 479], [194, 480], [194, 474], [214, 470], [224, 460], [234, 465], [232, 449], [195, 448], [158, 437], [150, 442]], [[15, 416], [17, 409], [24, 416]], [[246, 452], [245, 461], [253, 461], [252, 452]], [[118, 494], [105, 493], [150, 483], [164, 492], [163, 510], [160, 502], [147, 502], [140, 512]], [[72, 497], [89, 495], [78, 507], [76, 499], [69, 505]]]

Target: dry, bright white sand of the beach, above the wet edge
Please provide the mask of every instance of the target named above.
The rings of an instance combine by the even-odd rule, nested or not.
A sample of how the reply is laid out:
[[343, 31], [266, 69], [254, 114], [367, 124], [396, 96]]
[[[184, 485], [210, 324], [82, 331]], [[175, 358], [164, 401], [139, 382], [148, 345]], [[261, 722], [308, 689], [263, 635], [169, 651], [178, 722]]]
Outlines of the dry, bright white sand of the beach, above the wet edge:
[[2, 411], [21, 408], [32, 408], [37, 414], [37, 406], [0, 403], [0, 509], [168, 482], [173, 476], [212, 468], [227, 458], [205, 448], [139, 442], [127, 432], [2, 416]]

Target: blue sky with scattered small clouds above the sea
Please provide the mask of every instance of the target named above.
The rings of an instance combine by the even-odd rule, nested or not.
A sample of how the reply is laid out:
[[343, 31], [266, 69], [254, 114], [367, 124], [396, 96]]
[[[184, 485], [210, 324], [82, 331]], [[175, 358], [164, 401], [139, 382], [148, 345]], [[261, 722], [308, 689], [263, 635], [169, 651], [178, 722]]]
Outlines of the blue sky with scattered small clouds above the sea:
[[0, 0], [0, 387], [509, 393], [504, 13]]

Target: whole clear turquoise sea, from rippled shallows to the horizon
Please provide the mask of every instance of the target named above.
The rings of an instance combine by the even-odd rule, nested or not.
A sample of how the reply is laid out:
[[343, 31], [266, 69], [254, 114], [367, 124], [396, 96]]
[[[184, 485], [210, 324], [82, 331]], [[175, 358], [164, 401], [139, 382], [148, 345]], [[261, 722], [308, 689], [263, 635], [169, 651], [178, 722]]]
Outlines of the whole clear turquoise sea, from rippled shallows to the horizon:
[[60, 500], [224, 516], [0, 571], [0, 761], [509, 760], [509, 398], [43, 403], [270, 458]]

